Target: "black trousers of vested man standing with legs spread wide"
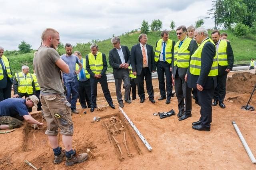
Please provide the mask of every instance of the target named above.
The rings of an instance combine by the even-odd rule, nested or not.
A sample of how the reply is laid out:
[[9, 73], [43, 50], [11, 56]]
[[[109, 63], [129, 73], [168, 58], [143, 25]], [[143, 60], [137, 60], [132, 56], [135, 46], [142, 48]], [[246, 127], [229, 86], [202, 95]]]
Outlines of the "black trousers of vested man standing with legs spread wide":
[[110, 95], [110, 91], [108, 90], [108, 82], [106, 74], [101, 78], [94, 78], [90, 76], [90, 83], [91, 83], [91, 106], [97, 106], [97, 84], [100, 82], [100, 86], [102, 88], [103, 94], [105, 99], [107, 100], [108, 104], [113, 104], [113, 100]]

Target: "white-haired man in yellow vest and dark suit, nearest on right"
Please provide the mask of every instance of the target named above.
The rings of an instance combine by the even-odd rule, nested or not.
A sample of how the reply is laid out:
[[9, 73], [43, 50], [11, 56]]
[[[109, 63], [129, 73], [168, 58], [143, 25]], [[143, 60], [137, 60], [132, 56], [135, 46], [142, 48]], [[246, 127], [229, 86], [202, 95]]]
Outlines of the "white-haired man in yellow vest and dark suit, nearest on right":
[[200, 103], [201, 117], [192, 123], [195, 130], [210, 131], [212, 122], [212, 98], [217, 86], [218, 61], [214, 42], [205, 28], [197, 28], [194, 33], [200, 44], [190, 58], [188, 87], [196, 88]]

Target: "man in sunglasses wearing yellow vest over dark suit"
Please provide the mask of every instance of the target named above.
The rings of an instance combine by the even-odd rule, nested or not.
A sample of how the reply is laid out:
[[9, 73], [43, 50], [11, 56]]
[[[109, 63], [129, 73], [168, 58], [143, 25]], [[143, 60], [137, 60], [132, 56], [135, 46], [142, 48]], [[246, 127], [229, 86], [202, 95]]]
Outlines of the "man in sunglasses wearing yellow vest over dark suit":
[[[178, 99], [178, 118], [184, 120], [192, 116], [192, 89], [187, 85], [187, 74], [190, 57], [197, 49], [196, 41], [187, 37], [187, 28], [182, 25], [176, 29], [179, 41], [174, 46], [172, 80], [175, 80], [175, 92]], [[185, 99], [185, 105], [184, 105]]]

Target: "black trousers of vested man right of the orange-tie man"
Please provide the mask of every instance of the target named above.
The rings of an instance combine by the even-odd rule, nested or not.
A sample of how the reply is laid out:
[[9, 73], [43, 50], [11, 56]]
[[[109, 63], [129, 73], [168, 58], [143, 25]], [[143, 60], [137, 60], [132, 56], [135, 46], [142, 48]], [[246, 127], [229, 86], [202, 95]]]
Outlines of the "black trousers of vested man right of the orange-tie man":
[[[156, 64], [156, 69], [157, 69], [157, 76], [159, 81], [159, 90], [160, 90], [161, 97], [166, 97], [166, 92], [167, 92], [167, 99], [171, 99], [172, 72], [170, 71], [170, 64], [168, 62], [158, 61]], [[164, 83], [164, 74], [166, 79], [166, 87]]]

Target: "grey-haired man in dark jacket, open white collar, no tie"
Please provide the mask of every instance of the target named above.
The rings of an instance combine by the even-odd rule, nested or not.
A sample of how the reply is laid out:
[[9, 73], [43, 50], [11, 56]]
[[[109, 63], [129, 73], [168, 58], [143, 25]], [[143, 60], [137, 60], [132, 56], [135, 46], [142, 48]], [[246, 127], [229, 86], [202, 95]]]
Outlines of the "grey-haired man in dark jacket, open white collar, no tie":
[[127, 46], [120, 45], [120, 38], [114, 36], [111, 39], [111, 43], [114, 48], [110, 50], [108, 60], [109, 65], [113, 68], [113, 74], [115, 78], [116, 85], [116, 98], [118, 100], [119, 106], [124, 107], [122, 100], [121, 85], [122, 80], [124, 81], [124, 101], [131, 103], [129, 100], [129, 90], [130, 90], [130, 77], [129, 77], [129, 65], [130, 61], [130, 51]]

